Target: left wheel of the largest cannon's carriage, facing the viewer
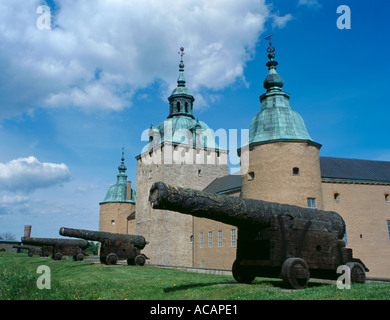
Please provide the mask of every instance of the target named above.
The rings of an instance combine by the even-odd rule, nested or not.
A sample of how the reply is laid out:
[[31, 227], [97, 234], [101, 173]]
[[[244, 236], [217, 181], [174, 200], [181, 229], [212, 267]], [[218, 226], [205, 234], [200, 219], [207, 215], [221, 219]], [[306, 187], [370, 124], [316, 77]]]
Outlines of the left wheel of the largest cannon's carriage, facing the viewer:
[[305, 260], [288, 258], [283, 262], [281, 276], [289, 287], [304, 289], [309, 282], [310, 271]]

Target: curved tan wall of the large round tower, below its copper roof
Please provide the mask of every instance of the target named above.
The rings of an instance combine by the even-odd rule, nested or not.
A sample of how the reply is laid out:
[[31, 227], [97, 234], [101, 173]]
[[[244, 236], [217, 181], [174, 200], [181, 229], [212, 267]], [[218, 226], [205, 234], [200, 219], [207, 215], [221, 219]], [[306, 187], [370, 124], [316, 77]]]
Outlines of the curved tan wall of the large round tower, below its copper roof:
[[319, 145], [274, 141], [251, 146], [241, 197], [307, 207], [308, 198], [323, 209]]

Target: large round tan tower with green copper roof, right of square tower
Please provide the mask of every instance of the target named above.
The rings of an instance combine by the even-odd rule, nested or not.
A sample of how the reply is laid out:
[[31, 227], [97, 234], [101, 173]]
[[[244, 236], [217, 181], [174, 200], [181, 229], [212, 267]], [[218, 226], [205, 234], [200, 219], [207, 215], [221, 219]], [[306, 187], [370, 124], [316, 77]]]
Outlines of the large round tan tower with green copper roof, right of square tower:
[[[283, 79], [276, 71], [271, 37], [270, 61], [260, 96], [261, 110], [251, 122], [248, 159], [242, 175], [241, 197], [323, 209], [319, 149], [309, 136], [301, 116], [291, 109], [290, 95], [282, 91]], [[245, 154], [245, 152], [249, 152]]]

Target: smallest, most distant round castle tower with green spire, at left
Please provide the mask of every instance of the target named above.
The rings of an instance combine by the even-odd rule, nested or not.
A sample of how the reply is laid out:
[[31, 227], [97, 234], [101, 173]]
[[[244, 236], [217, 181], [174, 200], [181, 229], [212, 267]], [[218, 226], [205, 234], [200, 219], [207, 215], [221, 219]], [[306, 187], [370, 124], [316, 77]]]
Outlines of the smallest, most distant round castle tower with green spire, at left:
[[135, 191], [127, 181], [126, 166], [122, 150], [116, 184], [112, 185], [100, 205], [99, 231], [112, 233], [135, 233]]

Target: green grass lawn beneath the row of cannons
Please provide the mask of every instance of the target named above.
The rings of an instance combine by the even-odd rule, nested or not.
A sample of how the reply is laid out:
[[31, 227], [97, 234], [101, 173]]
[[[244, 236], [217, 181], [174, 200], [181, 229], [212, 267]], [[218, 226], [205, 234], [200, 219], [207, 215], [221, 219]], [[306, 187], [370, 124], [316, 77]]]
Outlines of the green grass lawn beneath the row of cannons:
[[[50, 268], [51, 288], [38, 289], [40, 265]], [[286, 290], [279, 279], [256, 278], [238, 284], [232, 276], [209, 275], [152, 266], [106, 266], [67, 259], [0, 253], [0, 300], [388, 300], [390, 283], [310, 282]]]

